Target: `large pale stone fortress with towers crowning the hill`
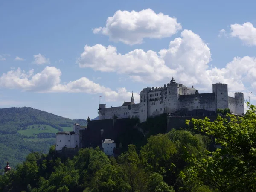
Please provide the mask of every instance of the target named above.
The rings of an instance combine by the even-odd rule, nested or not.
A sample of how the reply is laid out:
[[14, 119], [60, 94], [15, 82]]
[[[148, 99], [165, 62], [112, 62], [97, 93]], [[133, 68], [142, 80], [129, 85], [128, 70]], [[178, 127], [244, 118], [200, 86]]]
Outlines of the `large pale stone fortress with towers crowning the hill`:
[[99, 104], [99, 120], [137, 117], [144, 122], [148, 117], [163, 113], [173, 116], [211, 116], [217, 109], [229, 108], [230, 113], [244, 115], [244, 93], [228, 96], [227, 84], [212, 84], [212, 93], [199, 93], [192, 87], [176, 83], [174, 78], [163, 87], [148, 87], [140, 92], [140, 103], [124, 102], [122, 106], [106, 108]]

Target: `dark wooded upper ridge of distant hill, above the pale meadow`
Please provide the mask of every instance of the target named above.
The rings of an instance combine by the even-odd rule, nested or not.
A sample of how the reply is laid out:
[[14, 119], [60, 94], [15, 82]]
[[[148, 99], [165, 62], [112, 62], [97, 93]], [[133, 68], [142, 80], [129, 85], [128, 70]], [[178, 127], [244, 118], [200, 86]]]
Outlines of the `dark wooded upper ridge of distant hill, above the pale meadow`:
[[0, 133], [13, 134], [20, 129], [26, 129], [29, 125], [45, 124], [63, 131], [62, 127], [71, 127], [73, 123], [87, 125], [84, 119], [68, 119], [46, 111], [34, 108], [3, 108], [0, 109]]

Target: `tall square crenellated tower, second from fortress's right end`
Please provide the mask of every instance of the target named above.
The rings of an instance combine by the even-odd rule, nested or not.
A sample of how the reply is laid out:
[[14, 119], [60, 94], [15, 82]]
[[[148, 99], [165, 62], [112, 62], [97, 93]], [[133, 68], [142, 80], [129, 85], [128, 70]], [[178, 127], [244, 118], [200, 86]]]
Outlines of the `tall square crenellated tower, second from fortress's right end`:
[[215, 111], [228, 107], [227, 84], [215, 83], [212, 85], [212, 93], [215, 93]]

